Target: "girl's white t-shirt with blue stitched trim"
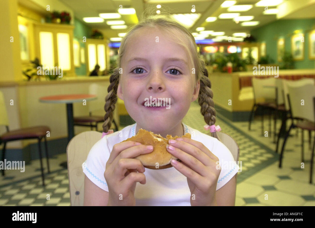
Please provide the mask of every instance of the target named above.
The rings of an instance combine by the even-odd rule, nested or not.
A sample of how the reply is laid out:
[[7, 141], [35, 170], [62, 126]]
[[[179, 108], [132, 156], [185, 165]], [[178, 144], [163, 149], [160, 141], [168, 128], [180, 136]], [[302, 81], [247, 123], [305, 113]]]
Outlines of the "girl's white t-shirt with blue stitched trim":
[[[186, 132], [192, 134], [194, 131], [191, 138], [203, 143], [219, 158], [221, 172], [216, 190], [220, 189], [239, 169], [231, 152], [218, 139], [192, 129], [184, 123], [182, 124], [185, 134]], [[121, 131], [104, 136], [95, 143], [86, 161], [82, 164], [85, 175], [101, 189], [108, 191], [104, 172], [114, 144], [134, 136], [136, 134], [135, 129], [136, 123], [123, 128]], [[229, 162], [230, 165], [227, 165], [226, 162]], [[160, 170], [146, 169], [144, 174], [146, 176], [146, 184], [136, 184], [136, 206], [191, 206], [191, 193], [187, 184], [187, 178], [174, 167]]]

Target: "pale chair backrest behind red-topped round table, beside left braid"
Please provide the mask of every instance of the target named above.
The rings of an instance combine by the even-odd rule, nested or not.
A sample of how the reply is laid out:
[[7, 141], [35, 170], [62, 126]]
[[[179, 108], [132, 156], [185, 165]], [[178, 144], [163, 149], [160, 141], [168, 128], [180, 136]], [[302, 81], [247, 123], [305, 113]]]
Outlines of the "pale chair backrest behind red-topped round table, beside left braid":
[[102, 111], [104, 112], [105, 97], [107, 95], [107, 88], [96, 83], [89, 86], [89, 94], [95, 94], [96, 100], [89, 101], [89, 112]]

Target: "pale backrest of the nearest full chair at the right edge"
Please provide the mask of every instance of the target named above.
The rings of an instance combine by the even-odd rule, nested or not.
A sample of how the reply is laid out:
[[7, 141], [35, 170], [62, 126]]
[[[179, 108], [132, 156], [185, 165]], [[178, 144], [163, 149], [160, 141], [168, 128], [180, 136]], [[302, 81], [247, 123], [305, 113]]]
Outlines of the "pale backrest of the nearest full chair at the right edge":
[[315, 123], [314, 101], [315, 85], [288, 85], [289, 105], [292, 117], [298, 117]]

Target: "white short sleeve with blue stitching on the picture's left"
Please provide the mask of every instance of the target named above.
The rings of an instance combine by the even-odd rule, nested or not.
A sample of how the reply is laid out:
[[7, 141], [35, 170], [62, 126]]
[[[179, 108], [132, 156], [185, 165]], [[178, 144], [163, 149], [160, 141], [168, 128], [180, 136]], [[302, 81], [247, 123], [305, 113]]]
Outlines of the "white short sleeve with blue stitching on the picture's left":
[[110, 156], [106, 137], [95, 143], [82, 164], [84, 174], [98, 187], [108, 192], [108, 186], [104, 178], [106, 162]]

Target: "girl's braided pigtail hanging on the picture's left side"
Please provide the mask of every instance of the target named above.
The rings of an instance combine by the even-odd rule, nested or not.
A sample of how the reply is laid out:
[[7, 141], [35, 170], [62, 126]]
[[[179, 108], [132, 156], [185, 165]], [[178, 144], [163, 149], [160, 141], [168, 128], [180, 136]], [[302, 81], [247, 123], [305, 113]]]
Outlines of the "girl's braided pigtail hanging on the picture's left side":
[[102, 125], [103, 132], [108, 132], [112, 125], [113, 120], [113, 111], [115, 109], [115, 104], [117, 102], [117, 88], [119, 84], [119, 68], [116, 67], [114, 72], [109, 78], [109, 82], [111, 83], [108, 88], [108, 94], [105, 97], [105, 116], [104, 116], [104, 123]]

